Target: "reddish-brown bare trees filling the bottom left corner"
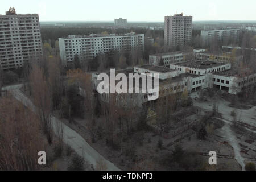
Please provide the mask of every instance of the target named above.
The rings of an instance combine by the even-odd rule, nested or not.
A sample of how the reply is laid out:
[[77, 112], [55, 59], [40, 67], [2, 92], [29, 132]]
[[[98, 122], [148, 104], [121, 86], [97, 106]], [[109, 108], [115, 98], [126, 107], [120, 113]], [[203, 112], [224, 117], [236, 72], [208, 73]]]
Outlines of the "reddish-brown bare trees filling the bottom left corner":
[[39, 169], [45, 150], [38, 117], [13, 97], [0, 98], [0, 170]]

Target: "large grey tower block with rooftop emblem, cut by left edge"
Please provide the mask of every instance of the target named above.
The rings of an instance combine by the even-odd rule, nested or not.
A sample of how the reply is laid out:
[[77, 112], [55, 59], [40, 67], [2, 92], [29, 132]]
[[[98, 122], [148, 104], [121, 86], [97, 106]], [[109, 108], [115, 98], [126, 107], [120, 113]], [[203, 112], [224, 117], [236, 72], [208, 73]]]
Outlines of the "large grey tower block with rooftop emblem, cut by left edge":
[[14, 8], [0, 15], [0, 67], [16, 69], [42, 56], [38, 14], [16, 14]]

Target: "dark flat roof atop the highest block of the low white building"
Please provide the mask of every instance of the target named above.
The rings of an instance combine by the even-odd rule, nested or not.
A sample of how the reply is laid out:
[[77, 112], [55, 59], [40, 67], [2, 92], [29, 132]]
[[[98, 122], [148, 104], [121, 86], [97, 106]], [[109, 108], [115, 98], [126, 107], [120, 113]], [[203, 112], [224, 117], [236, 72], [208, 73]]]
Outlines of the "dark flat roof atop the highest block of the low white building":
[[174, 65], [180, 65], [180, 66], [189, 67], [189, 68], [207, 69], [207, 68], [218, 67], [226, 64], [228, 63], [221, 63], [216, 61], [191, 60], [183, 63], [176, 63]]

